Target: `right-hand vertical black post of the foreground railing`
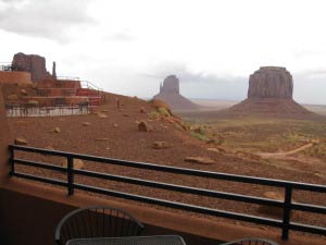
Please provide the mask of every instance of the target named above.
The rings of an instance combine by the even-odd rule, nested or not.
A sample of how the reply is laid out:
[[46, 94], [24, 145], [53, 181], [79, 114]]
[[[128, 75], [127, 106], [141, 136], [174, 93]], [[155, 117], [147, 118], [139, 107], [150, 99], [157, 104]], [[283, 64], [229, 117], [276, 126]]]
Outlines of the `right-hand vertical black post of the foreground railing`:
[[283, 209], [283, 228], [281, 238], [289, 238], [289, 224], [291, 216], [291, 199], [292, 199], [292, 186], [287, 185], [285, 189], [284, 209]]

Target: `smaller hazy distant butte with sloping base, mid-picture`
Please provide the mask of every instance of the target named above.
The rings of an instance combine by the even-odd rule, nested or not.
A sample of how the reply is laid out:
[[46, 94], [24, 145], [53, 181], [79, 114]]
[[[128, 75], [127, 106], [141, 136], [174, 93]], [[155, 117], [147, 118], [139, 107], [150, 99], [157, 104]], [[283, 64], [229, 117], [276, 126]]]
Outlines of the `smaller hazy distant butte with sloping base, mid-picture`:
[[160, 93], [154, 96], [154, 99], [165, 101], [172, 110], [196, 110], [200, 106], [191, 102], [189, 99], [180, 95], [179, 79], [176, 75], [166, 76], [163, 84], [160, 84]]

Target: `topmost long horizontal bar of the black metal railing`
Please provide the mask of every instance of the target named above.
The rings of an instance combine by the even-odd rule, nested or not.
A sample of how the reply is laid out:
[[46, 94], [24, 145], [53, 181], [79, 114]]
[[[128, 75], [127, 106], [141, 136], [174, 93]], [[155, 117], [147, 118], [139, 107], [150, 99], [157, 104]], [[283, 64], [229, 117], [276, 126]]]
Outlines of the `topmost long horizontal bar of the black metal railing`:
[[124, 160], [118, 160], [118, 159], [72, 154], [72, 152], [65, 152], [65, 151], [59, 151], [59, 150], [48, 150], [48, 149], [40, 149], [40, 148], [34, 148], [34, 147], [27, 147], [27, 146], [10, 145], [10, 147], [12, 147], [13, 149], [23, 150], [23, 151], [48, 154], [48, 155], [61, 156], [61, 157], [73, 157], [76, 159], [97, 161], [97, 162], [110, 163], [110, 164], [116, 164], [116, 166], [125, 166], [125, 167], [131, 167], [131, 168], [138, 168], [138, 169], [164, 171], [164, 172], [170, 172], [170, 173], [178, 173], [178, 174], [186, 174], [186, 175], [192, 175], [192, 176], [211, 177], [211, 179], [217, 179], [217, 180], [226, 180], [226, 181], [251, 183], [251, 184], [267, 185], [267, 186], [285, 187], [285, 186], [290, 185], [292, 188], [297, 188], [297, 189], [326, 193], [325, 185], [289, 182], [289, 181], [273, 180], [273, 179], [265, 179], [265, 177], [254, 177], [254, 176], [246, 176], [246, 175], [236, 175], [236, 174], [220, 173], [220, 172], [210, 172], [210, 171], [185, 169], [185, 168], [177, 168], [177, 167], [170, 167], [170, 166], [151, 164], [151, 163], [143, 163], [143, 162], [131, 162], [131, 161], [124, 161]]

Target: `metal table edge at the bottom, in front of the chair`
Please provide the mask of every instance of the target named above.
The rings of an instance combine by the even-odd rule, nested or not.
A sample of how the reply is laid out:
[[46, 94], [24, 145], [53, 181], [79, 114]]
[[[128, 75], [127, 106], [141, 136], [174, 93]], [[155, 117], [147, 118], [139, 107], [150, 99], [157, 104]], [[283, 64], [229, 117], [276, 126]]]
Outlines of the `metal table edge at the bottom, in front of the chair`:
[[66, 245], [186, 245], [178, 235], [75, 238]]

